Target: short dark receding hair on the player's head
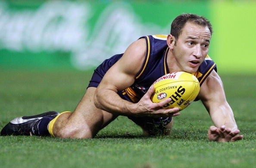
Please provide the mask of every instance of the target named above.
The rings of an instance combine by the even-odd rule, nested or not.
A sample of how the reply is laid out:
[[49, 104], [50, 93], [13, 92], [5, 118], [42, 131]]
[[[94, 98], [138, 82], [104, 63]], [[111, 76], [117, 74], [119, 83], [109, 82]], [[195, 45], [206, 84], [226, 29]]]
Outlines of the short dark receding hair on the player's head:
[[212, 24], [203, 16], [195, 15], [195, 14], [181, 14], [178, 15], [173, 21], [171, 25], [171, 34], [178, 39], [181, 34], [181, 31], [187, 22], [198, 24], [200, 26], [207, 26], [212, 35]]

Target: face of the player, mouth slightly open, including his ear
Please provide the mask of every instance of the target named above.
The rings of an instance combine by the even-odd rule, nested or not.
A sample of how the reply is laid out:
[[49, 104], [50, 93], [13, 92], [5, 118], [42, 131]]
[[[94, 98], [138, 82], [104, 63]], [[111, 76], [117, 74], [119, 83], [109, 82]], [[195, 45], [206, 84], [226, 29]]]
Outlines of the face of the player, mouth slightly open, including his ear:
[[183, 27], [178, 40], [172, 35], [168, 36], [168, 40], [169, 38], [173, 39], [169, 43], [172, 52], [171, 71], [197, 72], [209, 51], [211, 39], [209, 28], [188, 22]]

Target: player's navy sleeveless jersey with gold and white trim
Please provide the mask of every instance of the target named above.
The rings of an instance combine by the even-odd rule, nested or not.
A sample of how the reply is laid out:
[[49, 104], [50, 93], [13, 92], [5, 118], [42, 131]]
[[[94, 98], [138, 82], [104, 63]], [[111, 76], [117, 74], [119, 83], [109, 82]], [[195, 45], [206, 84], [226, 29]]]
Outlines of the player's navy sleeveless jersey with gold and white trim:
[[[136, 75], [134, 84], [127, 89], [118, 92], [122, 99], [126, 99], [131, 102], [138, 102], [156, 79], [169, 73], [167, 66], [167, 53], [169, 48], [166, 44], [166, 37], [167, 35], [150, 35], [140, 37], [140, 39], [144, 38], [147, 44], [144, 63]], [[117, 54], [107, 60], [104, 60], [103, 63], [94, 70], [94, 75], [92, 76], [88, 87], [97, 87], [106, 71], [116, 63], [122, 55], [123, 54]], [[207, 55], [197, 72], [193, 75], [197, 77], [200, 85], [202, 85], [203, 81], [213, 69], [217, 71], [215, 63]]]

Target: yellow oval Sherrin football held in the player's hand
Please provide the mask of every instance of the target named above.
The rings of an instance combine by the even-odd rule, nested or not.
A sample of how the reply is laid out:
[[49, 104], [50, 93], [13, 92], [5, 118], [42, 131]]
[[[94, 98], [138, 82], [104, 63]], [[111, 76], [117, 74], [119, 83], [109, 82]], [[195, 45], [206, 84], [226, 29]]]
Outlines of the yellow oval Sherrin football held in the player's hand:
[[188, 72], [172, 72], [158, 78], [154, 83], [155, 93], [152, 102], [161, 102], [167, 98], [172, 101], [163, 108], [178, 107], [183, 110], [196, 99], [200, 84], [197, 78]]

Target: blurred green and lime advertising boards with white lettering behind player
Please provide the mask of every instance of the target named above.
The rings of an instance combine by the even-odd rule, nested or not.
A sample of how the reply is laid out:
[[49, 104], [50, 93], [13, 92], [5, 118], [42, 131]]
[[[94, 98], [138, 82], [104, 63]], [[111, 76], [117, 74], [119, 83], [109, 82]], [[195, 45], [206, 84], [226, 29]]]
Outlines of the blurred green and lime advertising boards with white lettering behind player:
[[[250, 3], [242, 5], [253, 11]], [[215, 32], [209, 55], [219, 71], [256, 72], [252, 61], [246, 67], [240, 64], [242, 51], [233, 45], [236, 30], [244, 27], [230, 18], [235, 12], [231, 10], [233, 6], [236, 11], [240, 9], [233, 3], [209, 1], [0, 1], [0, 66], [93, 69], [104, 59], [124, 52], [140, 36], [168, 34], [177, 15], [195, 13], [212, 21]], [[236, 18], [244, 15], [236, 14]], [[239, 19], [243, 24], [251, 24]], [[252, 48], [246, 49], [245, 38], [249, 34], [243, 32], [243, 53], [254, 59]], [[251, 36], [248, 38], [252, 40]]]

